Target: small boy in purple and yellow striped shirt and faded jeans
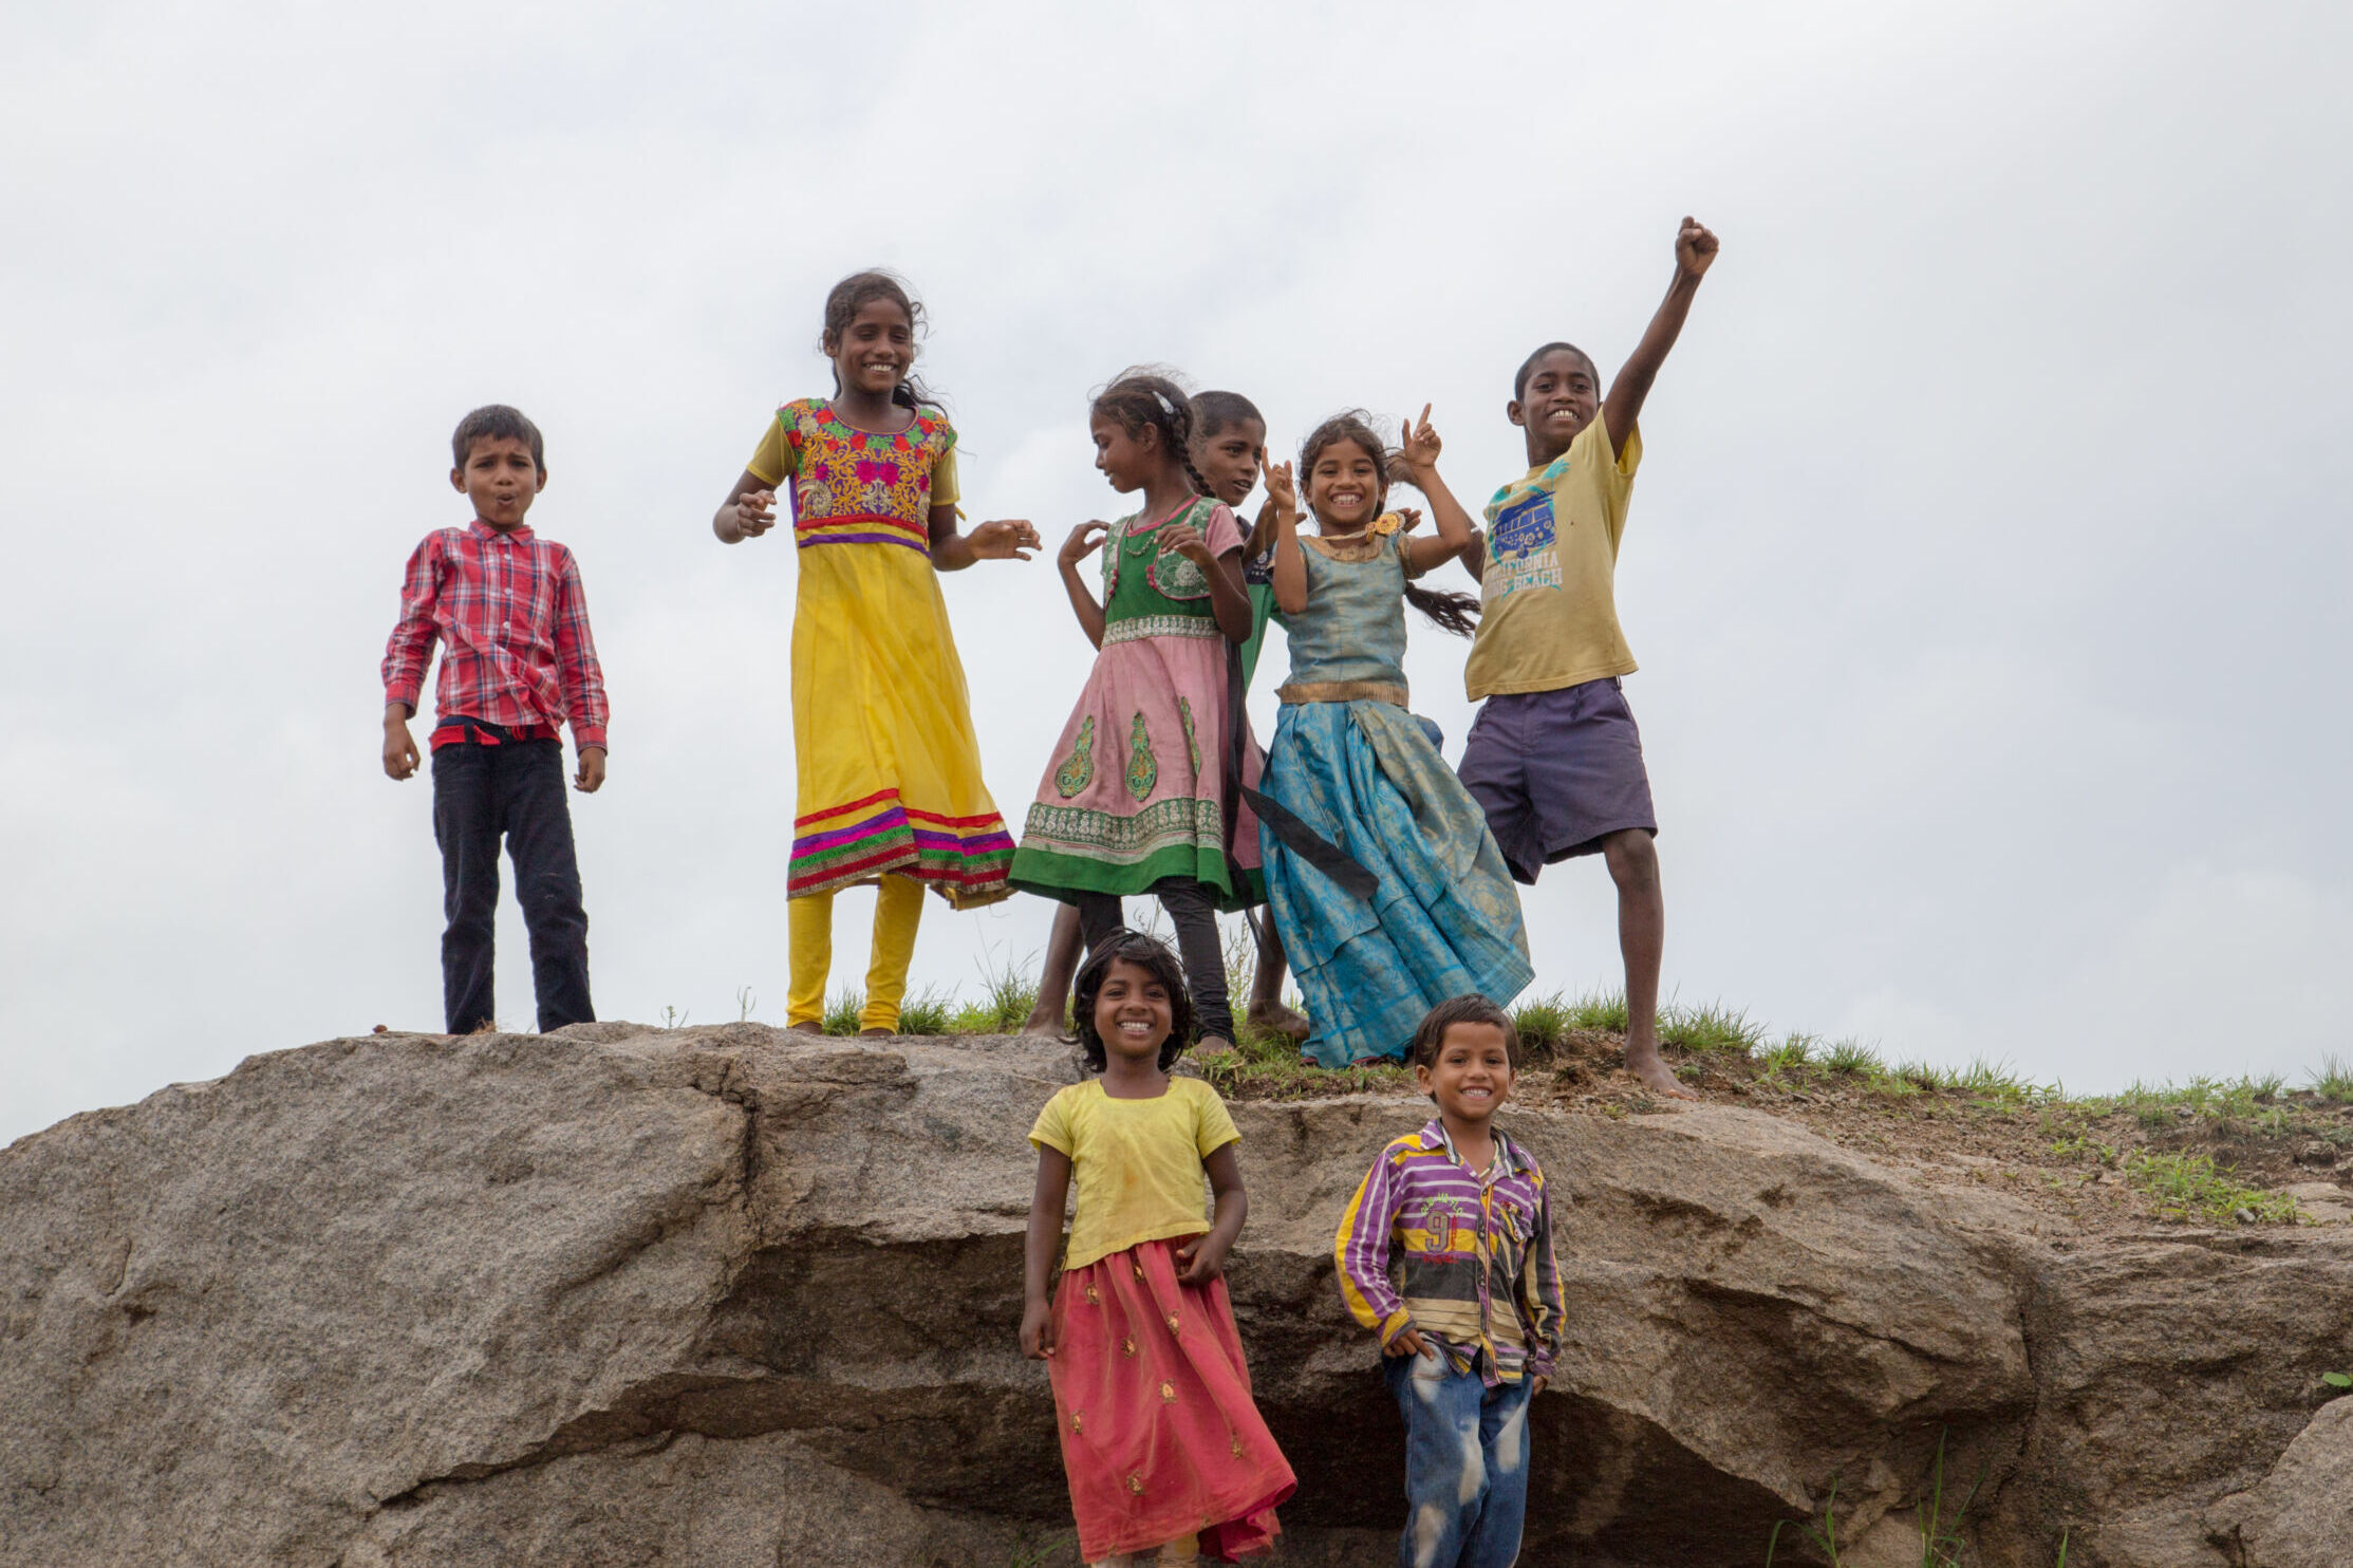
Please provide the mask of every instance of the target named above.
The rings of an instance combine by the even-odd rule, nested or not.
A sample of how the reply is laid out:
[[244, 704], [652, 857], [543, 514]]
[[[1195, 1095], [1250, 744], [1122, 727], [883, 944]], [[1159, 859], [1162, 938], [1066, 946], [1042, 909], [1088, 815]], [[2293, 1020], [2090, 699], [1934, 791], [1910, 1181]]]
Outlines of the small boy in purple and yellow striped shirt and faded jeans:
[[1537, 1158], [1494, 1130], [1520, 1034], [1485, 996], [1431, 1008], [1414, 1083], [1438, 1102], [1339, 1222], [1339, 1288], [1381, 1333], [1405, 1415], [1405, 1568], [1508, 1568], [1527, 1511], [1527, 1401], [1560, 1349], [1560, 1264]]

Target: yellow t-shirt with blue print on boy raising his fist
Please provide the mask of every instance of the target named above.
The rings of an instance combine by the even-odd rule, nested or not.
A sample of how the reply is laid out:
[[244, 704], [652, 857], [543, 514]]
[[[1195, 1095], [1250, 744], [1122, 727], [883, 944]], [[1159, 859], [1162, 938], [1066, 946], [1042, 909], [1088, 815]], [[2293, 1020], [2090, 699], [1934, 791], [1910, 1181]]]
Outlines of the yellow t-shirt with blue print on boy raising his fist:
[[1640, 464], [1642, 433], [1609, 461], [1609, 431], [1593, 414], [1567, 452], [1487, 501], [1487, 577], [1464, 664], [1471, 702], [1633, 673], [1614, 582]]

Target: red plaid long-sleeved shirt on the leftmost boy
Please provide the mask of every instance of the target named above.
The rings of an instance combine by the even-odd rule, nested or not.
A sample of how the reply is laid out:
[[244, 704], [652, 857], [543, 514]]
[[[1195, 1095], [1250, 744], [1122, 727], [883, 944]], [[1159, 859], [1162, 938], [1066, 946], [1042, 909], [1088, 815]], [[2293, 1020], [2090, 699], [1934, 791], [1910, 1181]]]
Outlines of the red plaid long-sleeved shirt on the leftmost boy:
[[605, 744], [605, 671], [572, 551], [529, 527], [475, 518], [426, 534], [400, 584], [400, 624], [384, 645], [384, 702], [416, 706], [442, 643], [433, 704], [494, 725], [572, 723], [574, 746]]

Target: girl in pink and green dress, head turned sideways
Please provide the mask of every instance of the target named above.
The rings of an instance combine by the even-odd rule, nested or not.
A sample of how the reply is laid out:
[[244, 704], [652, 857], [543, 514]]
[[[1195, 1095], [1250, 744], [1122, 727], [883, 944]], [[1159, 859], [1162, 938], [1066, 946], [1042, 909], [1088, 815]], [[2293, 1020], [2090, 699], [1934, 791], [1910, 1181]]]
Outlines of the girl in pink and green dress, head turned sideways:
[[[1120, 899], [1153, 892], [1176, 928], [1202, 1045], [1233, 1043], [1219, 909], [1264, 897], [1259, 824], [1240, 800], [1259, 749], [1228, 645], [1249, 638], [1242, 527], [1193, 464], [1193, 405], [1153, 370], [1129, 370], [1092, 407], [1094, 466], [1144, 509], [1080, 523], [1061, 582], [1094, 669], [1014, 852], [1012, 883], [1078, 906], [1094, 949]], [[1104, 598], [1080, 563], [1104, 551]]]

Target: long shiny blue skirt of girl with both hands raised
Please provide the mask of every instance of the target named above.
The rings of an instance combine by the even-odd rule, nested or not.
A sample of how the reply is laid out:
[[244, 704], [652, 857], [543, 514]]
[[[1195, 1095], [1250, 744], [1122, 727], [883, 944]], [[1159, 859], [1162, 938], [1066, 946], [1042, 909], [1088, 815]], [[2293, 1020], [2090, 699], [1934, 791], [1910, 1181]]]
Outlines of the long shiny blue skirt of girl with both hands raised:
[[1386, 702], [1287, 702], [1261, 789], [1379, 881], [1369, 902], [1261, 824], [1266, 906], [1322, 1067], [1402, 1057], [1449, 996], [1508, 1003], [1534, 970], [1520, 895], [1478, 800], [1421, 723]]

